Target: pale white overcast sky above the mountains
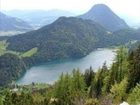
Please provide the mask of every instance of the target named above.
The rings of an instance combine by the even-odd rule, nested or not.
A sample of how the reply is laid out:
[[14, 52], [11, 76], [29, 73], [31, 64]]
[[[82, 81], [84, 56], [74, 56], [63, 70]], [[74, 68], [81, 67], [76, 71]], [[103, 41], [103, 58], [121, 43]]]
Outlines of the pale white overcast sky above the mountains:
[[66, 10], [76, 14], [87, 12], [95, 4], [108, 5], [127, 21], [140, 24], [140, 0], [0, 0], [1, 10]]

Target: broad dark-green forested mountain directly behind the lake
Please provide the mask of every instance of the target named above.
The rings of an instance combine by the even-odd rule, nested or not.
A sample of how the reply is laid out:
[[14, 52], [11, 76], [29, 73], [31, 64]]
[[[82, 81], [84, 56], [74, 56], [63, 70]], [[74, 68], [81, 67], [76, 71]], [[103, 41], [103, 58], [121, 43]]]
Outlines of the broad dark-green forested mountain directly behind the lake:
[[37, 47], [35, 61], [45, 62], [83, 57], [95, 49], [100, 40], [107, 38], [106, 29], [93, 21], [61, 17], [38, 30], [10, 37], [7, 43], [9, 50], [17, 52]]

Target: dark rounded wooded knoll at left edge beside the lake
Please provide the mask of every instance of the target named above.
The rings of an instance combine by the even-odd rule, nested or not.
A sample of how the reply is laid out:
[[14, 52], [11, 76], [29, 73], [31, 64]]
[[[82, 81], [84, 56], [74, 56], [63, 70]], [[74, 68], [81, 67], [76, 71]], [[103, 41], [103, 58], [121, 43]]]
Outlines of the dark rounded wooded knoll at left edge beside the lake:
[[0, 56], [0, 86], [10, 84], [26, 70], [24, 62], [14, 54]]

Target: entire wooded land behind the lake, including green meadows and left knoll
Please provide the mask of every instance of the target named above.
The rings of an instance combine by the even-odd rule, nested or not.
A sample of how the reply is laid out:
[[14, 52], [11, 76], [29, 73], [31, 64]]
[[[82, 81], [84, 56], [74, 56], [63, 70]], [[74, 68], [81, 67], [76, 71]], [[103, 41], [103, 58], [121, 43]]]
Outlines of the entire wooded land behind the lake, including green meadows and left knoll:
[[[0, 40], [4, 40], [0, 42], [0, 85], [6, 85], [35, 64], [81, 58], [96, 48], [140, 40], [140, 31], [122, 29], [111, 33], [92, 20], [61, 17], [38, 30]], [[9, 78], [5, 79], [4, 74]]]

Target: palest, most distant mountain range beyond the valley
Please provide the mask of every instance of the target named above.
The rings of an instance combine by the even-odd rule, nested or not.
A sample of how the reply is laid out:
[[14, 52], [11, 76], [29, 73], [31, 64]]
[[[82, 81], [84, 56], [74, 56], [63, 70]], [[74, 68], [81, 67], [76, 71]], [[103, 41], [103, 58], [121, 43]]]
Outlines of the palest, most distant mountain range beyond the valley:
[[61, 16], [74, 16], [73, 13], [63, 10], [12, 10], [5, 13], [23, 19], [35, 28], [50, 24]]

